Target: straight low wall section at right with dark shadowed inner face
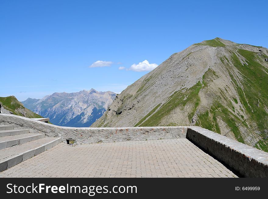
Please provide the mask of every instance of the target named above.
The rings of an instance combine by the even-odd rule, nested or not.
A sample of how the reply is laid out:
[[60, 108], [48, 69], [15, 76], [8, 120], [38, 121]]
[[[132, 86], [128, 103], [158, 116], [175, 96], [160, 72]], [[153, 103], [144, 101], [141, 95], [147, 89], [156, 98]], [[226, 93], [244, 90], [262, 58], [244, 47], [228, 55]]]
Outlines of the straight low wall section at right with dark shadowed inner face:
[[268, 177], [268, 153], [201, 127], [188, 127], [186, 138], [242, 176]]

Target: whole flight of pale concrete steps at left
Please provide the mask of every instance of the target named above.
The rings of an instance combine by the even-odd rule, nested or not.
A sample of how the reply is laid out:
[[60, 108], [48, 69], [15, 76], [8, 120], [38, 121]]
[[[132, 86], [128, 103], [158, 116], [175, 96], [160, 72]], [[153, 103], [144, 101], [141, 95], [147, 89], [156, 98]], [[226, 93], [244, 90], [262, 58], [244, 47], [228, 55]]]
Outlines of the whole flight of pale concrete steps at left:
[[30, 133], [29, 129], [0, 126], [0, 172], [54, 147], [62, 138]]

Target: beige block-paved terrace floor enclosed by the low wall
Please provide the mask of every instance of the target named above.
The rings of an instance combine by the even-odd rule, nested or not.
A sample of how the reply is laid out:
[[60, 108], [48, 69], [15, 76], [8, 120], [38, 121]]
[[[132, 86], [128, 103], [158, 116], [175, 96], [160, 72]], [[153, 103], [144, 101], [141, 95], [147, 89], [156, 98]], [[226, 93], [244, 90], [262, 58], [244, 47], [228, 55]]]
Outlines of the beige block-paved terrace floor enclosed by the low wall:
[[60, 143], [0, 177], [237, 177], [186, 138]]

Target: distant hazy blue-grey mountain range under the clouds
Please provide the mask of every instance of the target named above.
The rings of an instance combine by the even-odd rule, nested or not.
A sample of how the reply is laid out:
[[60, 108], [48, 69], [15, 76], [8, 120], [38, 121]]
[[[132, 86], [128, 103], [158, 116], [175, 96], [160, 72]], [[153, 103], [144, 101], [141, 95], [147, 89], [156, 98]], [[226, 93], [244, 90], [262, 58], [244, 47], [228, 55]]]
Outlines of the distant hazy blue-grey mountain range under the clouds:
[[53, 93], [43, 99], [23, 101], [33, 112], [49, 117], [51, 123], [69, 127], [89, 127], [107, 110], [116, 94], [94, 89], [77, 93]]

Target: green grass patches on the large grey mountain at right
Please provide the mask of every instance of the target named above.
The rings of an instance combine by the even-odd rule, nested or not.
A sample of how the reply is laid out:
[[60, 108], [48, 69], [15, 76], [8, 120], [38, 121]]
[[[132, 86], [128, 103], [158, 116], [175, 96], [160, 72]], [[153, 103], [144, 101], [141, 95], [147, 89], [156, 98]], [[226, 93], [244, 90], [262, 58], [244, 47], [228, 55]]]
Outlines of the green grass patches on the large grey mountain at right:
[[[224, 44], [222, 45], [217, 39], [208, 40], [197, 45], [210, 45], [213, 47], [224, 46]], [[239, 100], [246, 111], [245, 115], [247, 115], [249, 119], [245, 120], [243, 115], [235, 113], [232, 102], [228, 101], [232, 100], [234, 103], [238, 104], [238, 99], [228, 98], [225, 92], [219, 89], [218, 93], [220, 98], [214, 99], [210, 109], [198, 115], [198, 121], [195, 125], [221, 134], [217, 122], [217, 118], [220, 118], [227, 124], [236, 140], [245, 143], [239, 125], [250, 129], [251, 127], [249, 125], [254, 123], [257, 125], [256, 131], [260, 131], [260, 136], [262, 137], [262, 139], [256, 143], [255, 147], [268, 152], [268, 136], [267, 133], [265, 133], [268, 128], [268, 114], [266, 111], [268, 105], [268, 70], [260, 64], [260, 61], [267, 58], [267, 56], [243, 49], [238, 49], [237, 52], [230, 51], [230, 53], [232, 55], [231, 60], [224, 62], [223, 60], [227, 59], [226, 57], [221, 57], [220, 60], [225, 65], [231, 77], [234, 88], [239, 95]], [[247, 64], [242, 64], [236, 54], [245, 58]], [[232, 68], [230, 64], [234, 65], [243, 75], [243, 81], [237, 82], [238, 78], [234, 76], [234, 68]], [[153, 110], [135, 126], [158, 126], [161, 121], [163, 121], [163, 118], [168, 116], [172, 110], [178, 107], [183, 110], [185, 105], [189, 104], [189, 102], [192, 103], [194, 107], [192, 112], [188, 115], [190, 121], [199, 106], [199, 92], [201, 89], [206, 89], [207, 82], [204, 80], [213, 78], [217, 78], [217, 74], [212, 69], [208, 69], [203, 75], [203, 82], [198, 82], [192, 88], [182, 88], [173, 93], [165, 103], [162, 105], [159, 104], [157, 107], [153, 108]], [[169, 124], [166, 124], [166, 126], [168, 125]], [[175, 126], [176, 124], [173, 125]]]

